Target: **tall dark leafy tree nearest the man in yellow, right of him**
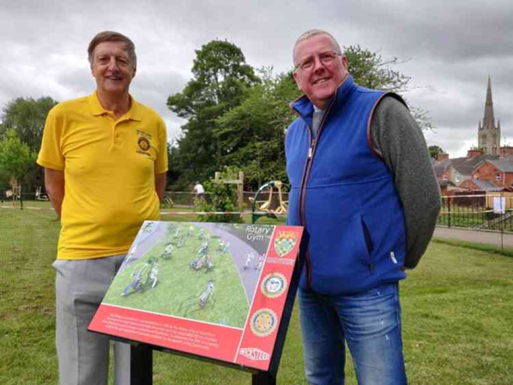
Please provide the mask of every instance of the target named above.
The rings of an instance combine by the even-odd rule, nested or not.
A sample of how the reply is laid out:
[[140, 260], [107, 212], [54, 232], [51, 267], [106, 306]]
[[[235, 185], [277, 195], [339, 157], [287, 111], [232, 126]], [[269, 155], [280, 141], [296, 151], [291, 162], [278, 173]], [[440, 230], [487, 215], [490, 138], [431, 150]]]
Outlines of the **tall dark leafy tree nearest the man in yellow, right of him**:
[[212, 176], [220, 166], [216, 119], [240, 104], [245, 90], [259, 82], [240, 48], [227, 41], [214, 40], [197, 50], [192, 73], [182, 92], [167, 100], [170, 110], [188, 119], [173, 157], [174, 171], [188, 181]]

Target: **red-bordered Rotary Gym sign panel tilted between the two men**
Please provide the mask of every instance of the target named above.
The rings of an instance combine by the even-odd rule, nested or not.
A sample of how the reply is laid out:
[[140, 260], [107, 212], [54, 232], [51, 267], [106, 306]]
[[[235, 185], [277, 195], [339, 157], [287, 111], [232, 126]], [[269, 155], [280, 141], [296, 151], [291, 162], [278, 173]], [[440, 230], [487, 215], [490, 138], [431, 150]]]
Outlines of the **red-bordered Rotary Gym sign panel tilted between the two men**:
[[89, 330], [267, 371], [301, 235], [145, 221]]

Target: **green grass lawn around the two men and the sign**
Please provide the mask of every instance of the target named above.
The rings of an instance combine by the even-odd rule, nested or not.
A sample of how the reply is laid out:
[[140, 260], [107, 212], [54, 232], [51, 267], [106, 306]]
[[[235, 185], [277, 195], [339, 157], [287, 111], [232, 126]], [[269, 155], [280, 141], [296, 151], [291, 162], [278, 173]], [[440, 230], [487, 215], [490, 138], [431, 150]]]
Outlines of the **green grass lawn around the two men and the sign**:
[[[165, 219], [196, 220], [183, 217]], [[56, 383], [51, 263], [58, 231], [52, 211], [0, 208], [2, 385]], [[433, 242], [401, 293], [410, 384], [513, 383], [513, 258]], [[346, 383], [355, 385], [350, 367]], [[251, 383], [251, 374], [155, 352], [154, 383], [240, 385]], [[297, 306], [278, 383], [306, 384]]]

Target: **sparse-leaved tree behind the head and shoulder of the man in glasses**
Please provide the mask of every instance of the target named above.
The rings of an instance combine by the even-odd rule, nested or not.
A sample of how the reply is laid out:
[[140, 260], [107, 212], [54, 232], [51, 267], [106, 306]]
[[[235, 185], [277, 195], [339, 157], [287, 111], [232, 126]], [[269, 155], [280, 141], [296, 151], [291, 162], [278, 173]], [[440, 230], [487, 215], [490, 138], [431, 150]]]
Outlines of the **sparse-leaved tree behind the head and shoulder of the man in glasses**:
[[[344, 52], [348, 60], [349, 73], [360, 86], [400, 94], [410, 89], [411, 77], [393, 68], [405, 62], [397, 56], [384, 59], [379, 52], [372, 52], [359, 45], [344, 47]], [[410, 106], [410, 112], [421, 129], [434, 129], [428, 111]]]

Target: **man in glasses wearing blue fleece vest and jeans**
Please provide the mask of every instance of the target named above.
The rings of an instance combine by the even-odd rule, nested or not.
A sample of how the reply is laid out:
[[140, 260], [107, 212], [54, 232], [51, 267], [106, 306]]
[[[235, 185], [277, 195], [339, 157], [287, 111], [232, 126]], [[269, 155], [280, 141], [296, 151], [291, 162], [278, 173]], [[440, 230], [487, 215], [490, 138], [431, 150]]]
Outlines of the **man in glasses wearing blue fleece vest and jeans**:
[[298, 291], [307, 380], [344, 384], [345, 343], [359, 385], [407, 383], [398, 281], [424, 254], [440, 209], [423, 134], [393, 93], [357, 86], [334, 37], [294, 46], [287, 130], [288, 224], [305, 226]]

